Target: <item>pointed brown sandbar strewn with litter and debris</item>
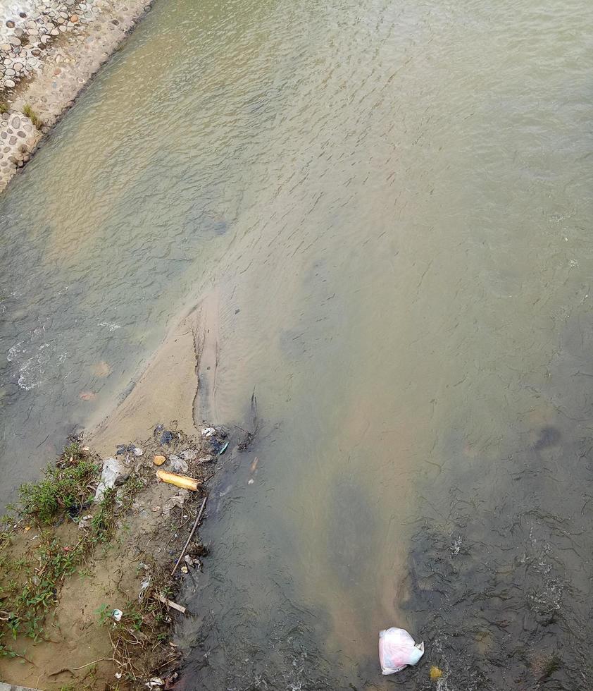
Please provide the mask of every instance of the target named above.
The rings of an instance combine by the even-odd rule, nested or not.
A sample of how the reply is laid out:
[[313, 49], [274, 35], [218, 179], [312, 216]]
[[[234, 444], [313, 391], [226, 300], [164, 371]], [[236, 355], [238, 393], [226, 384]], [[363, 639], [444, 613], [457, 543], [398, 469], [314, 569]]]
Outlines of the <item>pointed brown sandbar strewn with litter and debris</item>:
[[[0, 655], [0, 680], [56, 691], [135, 689], [145, 687], [151, 679], [154, 688], [168, 688], [174, 683], [180, 655], [172, 640], [173, 625], [176, 618], [192, 616], [192, 612], [188, 609], [182, 614], [162, 603], [154, 606], [154, 602], [146, 609], [138, 596], [148, 578], [154, 589], [150, 595], [153, 601], [161, 592], [177, 597], [185, 579], [190, 578], [194, 586], [199, 581], [200, 561], [193, 567], [184, 566], [185, 573], [178, 570], [173, 580], [168, 574], [207, 490], [190, 493], [157, 482], [153, 459], [163, 455], [167, 459], [163, 469], [206, 480], [215, 472], [219, 458], [235, 453], [236, 435], [227, 437], [221, 432], [204, 436], [202, 429], [204, 407], [213, 400], [216, 388], [217, 307], [218, 302], [208, 298], [181, 319], [125, 400], [84, 435], [80, 446], [84, 444], [88, 451], [81, 452], [83, 461], [96, 459], [101, 465], [101, 460], [115, 456], [129, 475], [118, 491], [120, 501], [113, 505], [113, 530], [105, 544], [99, 540], [90, 545], [95, 537], [89, 539], [89, 553], [81, 555], [75, 570], [56, 584], [48, 613], [39, 622], [44, 627], [39, 640], [34, 643], [19, 633], [11, 648], [18, 656]], [[164, 426], [157, 424], [163, 422]], [[227, 450], [226, 441], [230, 442]], [[127, 448], [122, 450], [122, 443]], [[142, 455], [135, 455], [136, 447], [142, 449]], [[69, 455], [65, 453], [58, 460], [59, 469], [68, 469]], [[178, 458], [186, 459], [187, 467], [175, 467]], [[95, 476], [90, 483], [93, 493], [96, 482]], [[58, 509], [58, 520], [51, 524], [46, 537], [46, 526], [35, 520], [35, 514], [25, 513], [11, 526], [8, 547], [0, 539], [0, 558], [8, 559], [11, 571], [15, 571], [21, 568], [16, 566], [18, 560], [25, 556], [31, 564], [30, 580], [36, 584], [40, 568], [48, 573], [47, 566], [39, 562], [40, 545], [51, 545], [58, 539], [58, 554], [72, 554], [80, 535], [92, 530], [89, 520], [82, 529], [77, 521], [85, 518], [85, 513], [100, 510], [85, 504], [73, 516]], [[111, 520], [111, 513], [108, 515]], [[204, 554], [197, 535], [190, 546], [192, 558]], [[19, 579], [23, 580], [22, 571], [16, 577], [22, 587]], [[11, 607], [5, 604], [15, 599], [8, 587], [10, 580], [0, 579], [0, 609], [7, 612]], [[123, 611], [123, 626], [108, 618], [105, 621], [105, 613], [113, 609]], [[10, 613], [6, 616], [11, 619]], [[5, 622], [6, 617], [0, 623], [5, 626]], [[3, 643], [12, 645], [6, 633], [0, 640], [0, 651]], [[152, 650], [150, 656], [146, 656], [147, 650]]]

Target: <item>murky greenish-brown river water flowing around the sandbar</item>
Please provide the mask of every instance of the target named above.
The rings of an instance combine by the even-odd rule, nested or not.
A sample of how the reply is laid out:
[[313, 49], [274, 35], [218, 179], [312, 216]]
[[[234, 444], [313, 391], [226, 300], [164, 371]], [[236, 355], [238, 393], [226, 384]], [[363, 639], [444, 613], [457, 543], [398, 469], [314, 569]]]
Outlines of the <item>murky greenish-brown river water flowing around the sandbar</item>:
[[2, 197], [4, 501], [201, 295], [256, 392], [182, 688], [592, 687], [592, 74], [586, 0], [159, 0]]

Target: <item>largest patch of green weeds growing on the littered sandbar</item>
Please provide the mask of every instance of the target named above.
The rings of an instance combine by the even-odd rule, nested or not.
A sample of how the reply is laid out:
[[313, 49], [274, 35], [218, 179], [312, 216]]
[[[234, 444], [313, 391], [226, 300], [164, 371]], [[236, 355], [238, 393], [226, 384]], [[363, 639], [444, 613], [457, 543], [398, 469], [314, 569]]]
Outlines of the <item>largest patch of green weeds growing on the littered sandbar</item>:
[[[46, 468], [39, 482], [20, 487], [18, 514], [5, 516], [0, 530], [0, 656], [17, 655], [11, 639], [19, 635], [33, 640], [43, 636], [44, 620], [65, 578], [85, 568], [98, 544], [108, 545], [118, 514], [131, 506], [142, 487], [132, 478], [129, 487], [108, 489], [97, 506], [92, 499], [99, 475], [99, 465], [75, 441]], [[56, 531], [83, 510], [93, 516], [85, 530]], [[27, 534], [37, 534], [38, 539], [28, 542], [25, 554], [18, 550], [13, 554], [17, 530], [27, 524], [32, 525]], [[68, 534], [74, 537], [63, 537]]]

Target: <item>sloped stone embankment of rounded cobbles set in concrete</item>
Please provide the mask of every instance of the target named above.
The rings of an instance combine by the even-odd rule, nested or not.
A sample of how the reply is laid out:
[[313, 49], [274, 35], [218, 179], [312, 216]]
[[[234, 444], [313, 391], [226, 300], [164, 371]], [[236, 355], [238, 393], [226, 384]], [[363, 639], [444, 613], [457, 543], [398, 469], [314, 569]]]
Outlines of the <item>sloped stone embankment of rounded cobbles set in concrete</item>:
[[0, 192], [73, 105], [151, 0], [0, 5]]

